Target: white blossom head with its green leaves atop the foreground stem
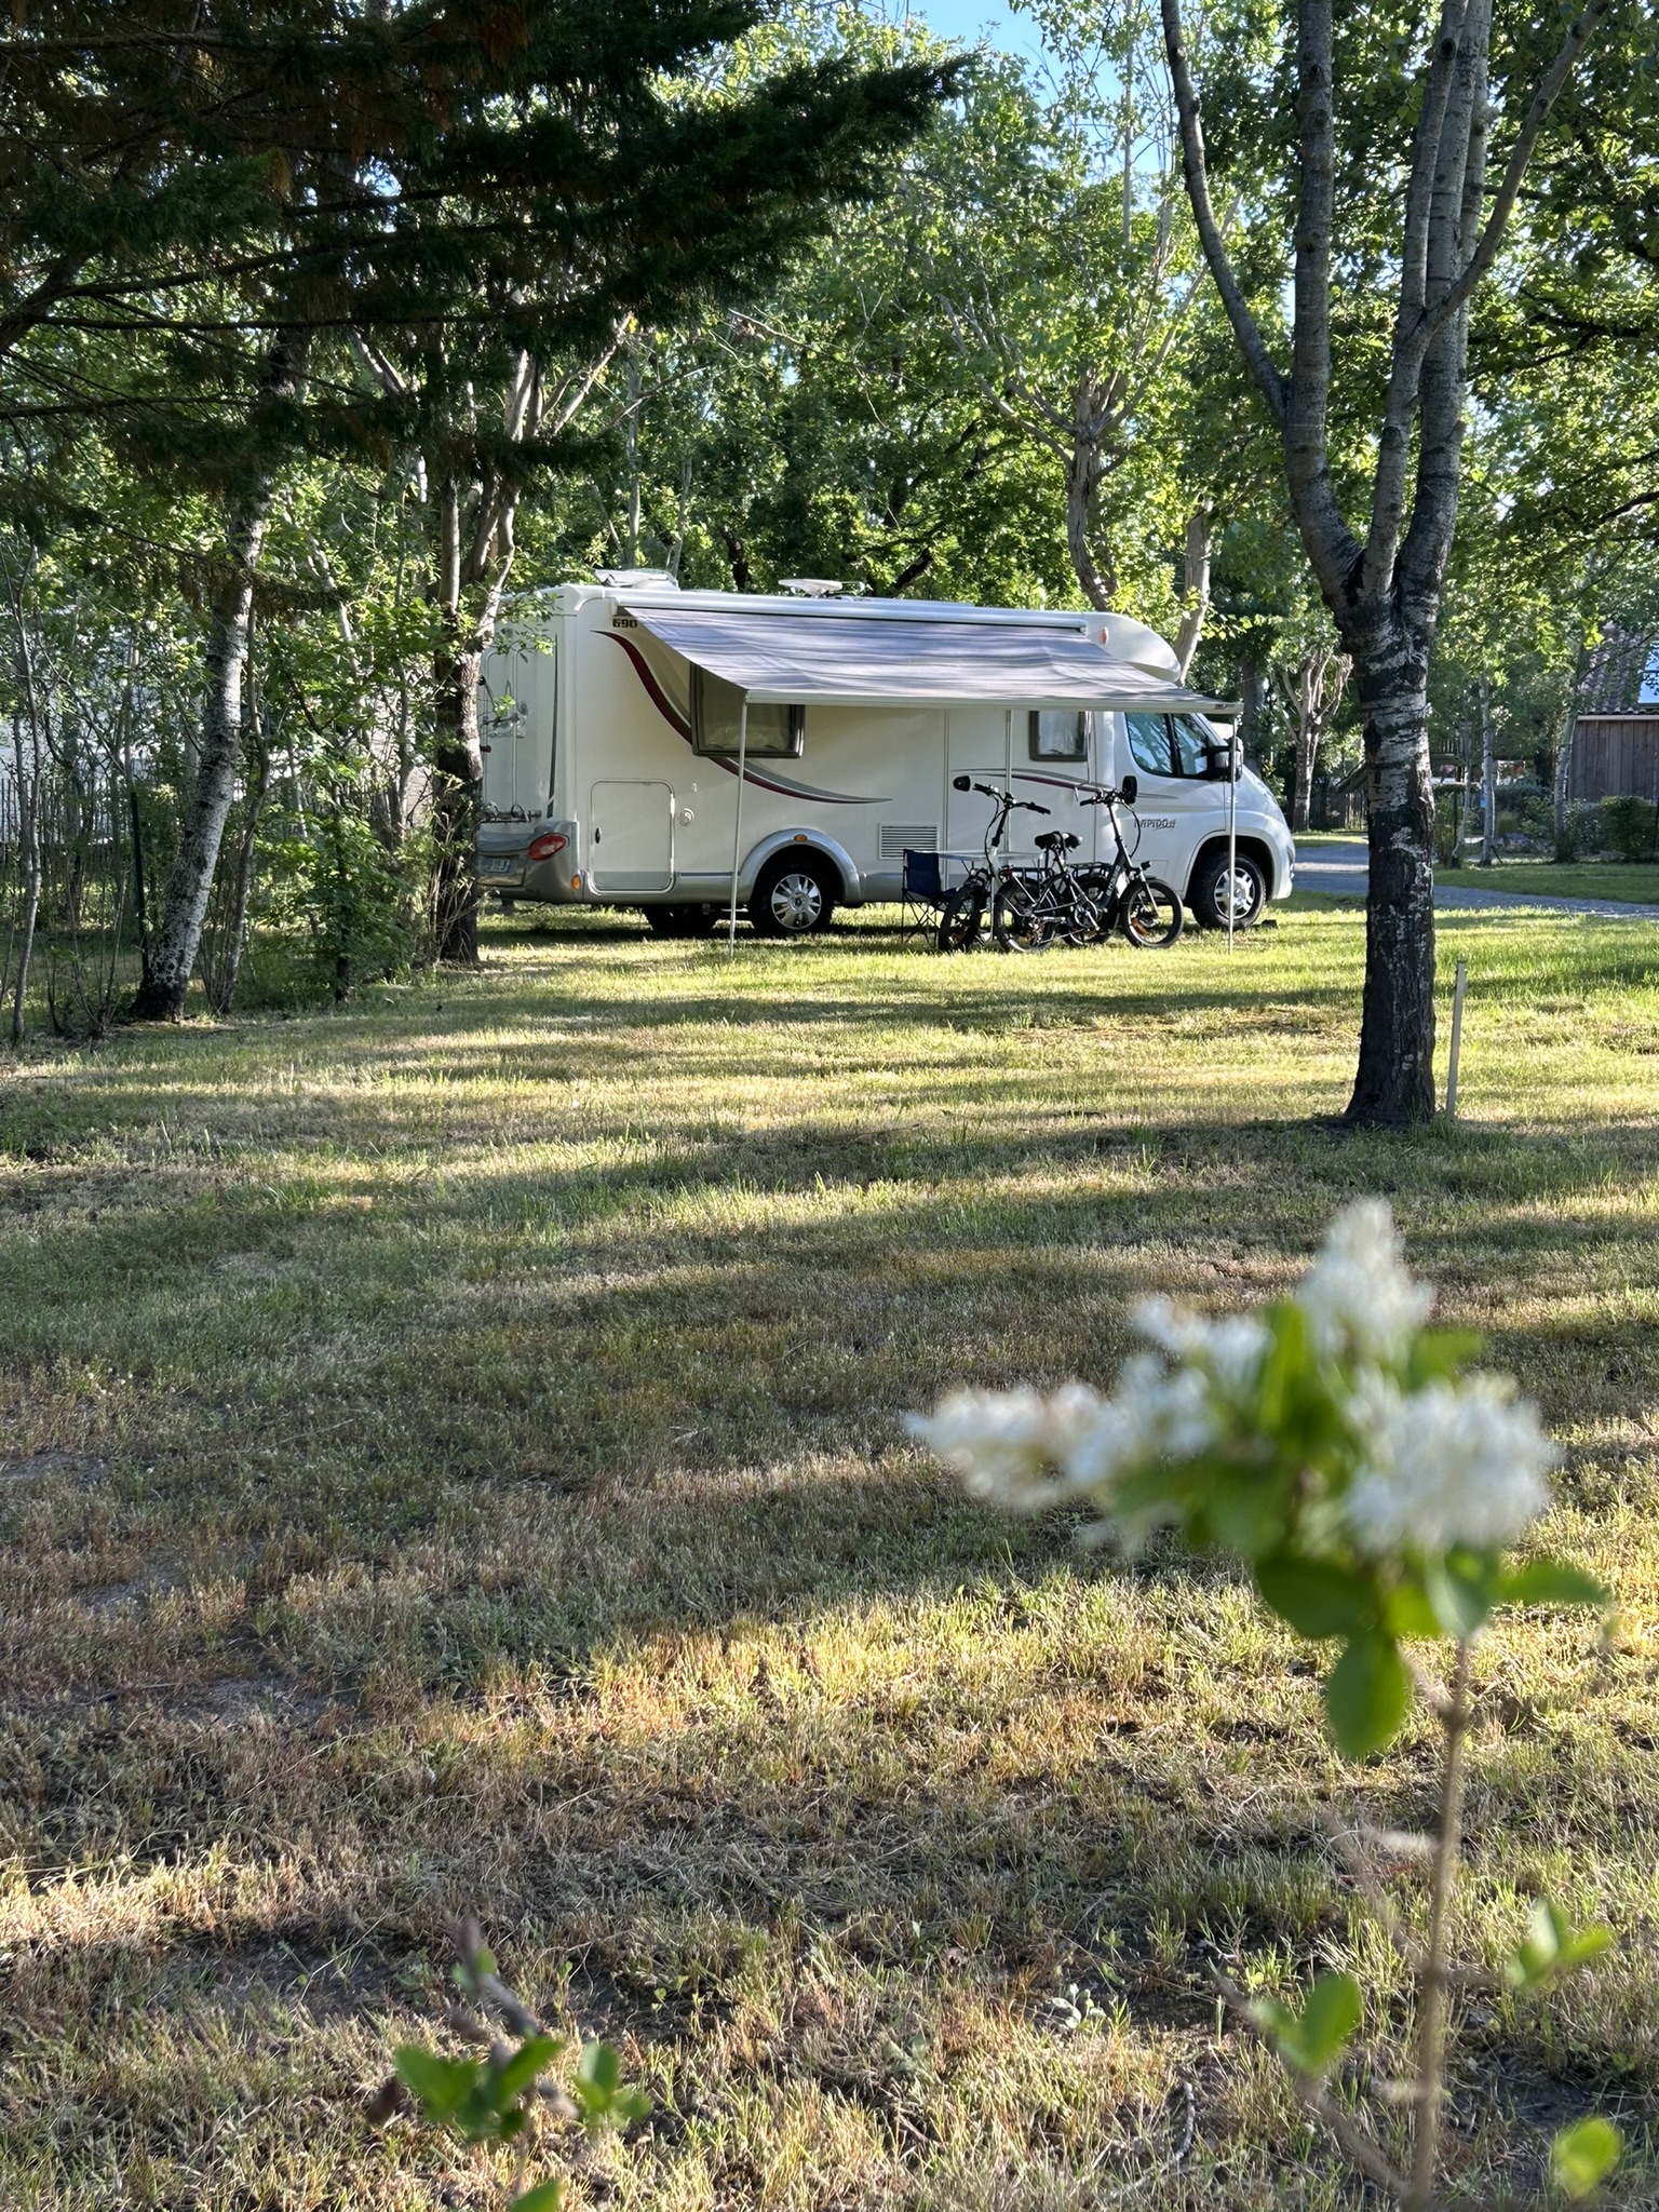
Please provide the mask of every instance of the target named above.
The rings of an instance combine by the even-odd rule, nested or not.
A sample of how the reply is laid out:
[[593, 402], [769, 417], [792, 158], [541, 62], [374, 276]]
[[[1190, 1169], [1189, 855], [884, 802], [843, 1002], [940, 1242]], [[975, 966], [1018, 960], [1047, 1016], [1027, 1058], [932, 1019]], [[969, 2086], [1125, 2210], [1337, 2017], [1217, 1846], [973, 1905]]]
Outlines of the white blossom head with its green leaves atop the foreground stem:
[[1150, 1349], [1110, 1398], [964, 1389], [911, 1429], [978, 1498], [1088, 1504], [1093, 1537], [1126, 1548], [1168, 1524], [1239, 1553], [1281, 1619], [1340, 1641], [1325, 1710], [1358, 1759], [1411, 1708], [1402, 1639], [1473, 1637], [1500, 1604], [1606, 1599], [1562, 1562], [1504, 1564], [1548, 1502], [1555, 1447], [1509, 1380], [1462, 1371], [1475, 1338], [1425, 1327], [1431, 1303], [1387, 1206], [1360, 1199], [1259, 1314], [1139, 1305]]

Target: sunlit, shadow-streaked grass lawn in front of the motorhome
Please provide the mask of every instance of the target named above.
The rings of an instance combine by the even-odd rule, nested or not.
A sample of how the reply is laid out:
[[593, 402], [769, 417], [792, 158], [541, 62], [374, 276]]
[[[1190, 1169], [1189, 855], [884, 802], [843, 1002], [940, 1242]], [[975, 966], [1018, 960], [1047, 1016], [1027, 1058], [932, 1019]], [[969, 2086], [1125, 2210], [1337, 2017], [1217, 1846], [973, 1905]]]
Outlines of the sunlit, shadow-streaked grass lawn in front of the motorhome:
[[1655, 940], [1444, 916], [1467, 1119], [1409, 1139], [1316, 1121], [1360, 947], [504, 925], [480, 978], [7, 1062], [7, 2212], [493, 2205], [361, 2112], [469, 1905], [657, 2101], [573, 2208], [1358, 2208], [1210, 1962], [1358, 1962], [1400, 2064], [1310, 1796], [1422, 1820], [1427, 1730], [1343, 1767], [1225, 1564], [1004, 1524], [900, 1418], [1104, 1380], [1133, 1298], [1276, 1292], [1360, 1190], [1626, 1606], [1480, 1652], [1462, 1942], [1548, 1885], [1619, 1949], [1471, 2000], [1451, 2166], [1531, 2185], [1599, 2106], [1659, 2205]]

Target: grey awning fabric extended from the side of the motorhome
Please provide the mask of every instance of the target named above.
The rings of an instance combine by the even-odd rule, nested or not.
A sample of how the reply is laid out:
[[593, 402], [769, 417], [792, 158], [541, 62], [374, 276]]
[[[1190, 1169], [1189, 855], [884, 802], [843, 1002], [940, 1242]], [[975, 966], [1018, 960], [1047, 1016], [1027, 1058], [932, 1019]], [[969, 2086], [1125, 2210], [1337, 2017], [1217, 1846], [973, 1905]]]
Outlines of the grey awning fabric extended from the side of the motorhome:
[[697, 668], [757, 703], [1117, 708], [1179, 714], [1223, 703], [1113, 659], [1077, 630], [922, 615], [803, 608], [677, 608], [628, 599], [628, 613]]

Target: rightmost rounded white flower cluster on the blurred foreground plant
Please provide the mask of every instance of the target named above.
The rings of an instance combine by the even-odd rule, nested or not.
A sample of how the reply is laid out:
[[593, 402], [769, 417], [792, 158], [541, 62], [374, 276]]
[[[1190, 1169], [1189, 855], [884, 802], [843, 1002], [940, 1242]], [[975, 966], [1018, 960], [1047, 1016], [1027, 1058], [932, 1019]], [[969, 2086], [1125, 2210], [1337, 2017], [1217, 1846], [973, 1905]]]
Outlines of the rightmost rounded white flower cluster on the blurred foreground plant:
[[1506, 1376], [1429, 1383], [1407, 1396], [1371, 1374], [1349, 1413], [1365, 1464], [1343, 1515], [1376, 1559], [1407, 1544], [1422, 1553], [1513, 1544], [1548, 1504], [1544, 1475], [1559, 1453]]

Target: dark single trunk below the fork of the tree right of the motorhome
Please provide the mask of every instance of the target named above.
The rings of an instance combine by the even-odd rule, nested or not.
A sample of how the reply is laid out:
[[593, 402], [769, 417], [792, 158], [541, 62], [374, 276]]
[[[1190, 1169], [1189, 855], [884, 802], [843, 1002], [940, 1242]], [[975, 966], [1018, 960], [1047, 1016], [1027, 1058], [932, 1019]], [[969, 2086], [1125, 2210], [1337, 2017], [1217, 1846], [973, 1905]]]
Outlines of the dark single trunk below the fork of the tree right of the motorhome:
[[1369, 896], [1360, 1060], [1347, 1119], [1433, 1119], [1433, 774], [1429, 655], [1387, 613], [1343, 639], [1365, 710]]

